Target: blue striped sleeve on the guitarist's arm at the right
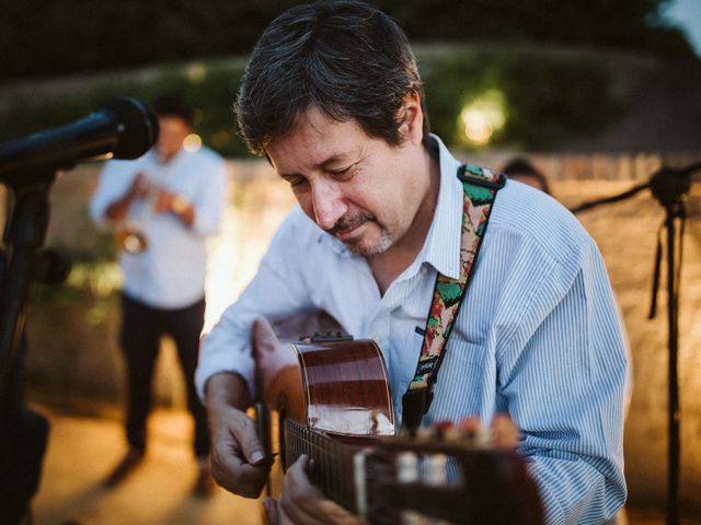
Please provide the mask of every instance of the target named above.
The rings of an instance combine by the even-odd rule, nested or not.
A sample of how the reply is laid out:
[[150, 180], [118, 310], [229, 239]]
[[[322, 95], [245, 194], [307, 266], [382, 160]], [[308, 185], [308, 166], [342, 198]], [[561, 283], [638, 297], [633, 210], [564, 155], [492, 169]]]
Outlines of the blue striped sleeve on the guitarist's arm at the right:
[[595, 524], [625, 501], [627, 340], [594, 242], [570, 281], [543, 279], [501, 357], [498, 395], [522, 431], [545, 523]]

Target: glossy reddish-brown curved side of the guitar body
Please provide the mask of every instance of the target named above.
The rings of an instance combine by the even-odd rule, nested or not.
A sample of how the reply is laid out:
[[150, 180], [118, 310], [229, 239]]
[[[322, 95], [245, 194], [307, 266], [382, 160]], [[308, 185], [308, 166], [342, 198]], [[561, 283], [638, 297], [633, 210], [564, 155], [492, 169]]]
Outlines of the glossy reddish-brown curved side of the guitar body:
[[262, 378], [271, 408], [334, 434], [393, 435], [392, 397], [376, 342], [353, 340], [338, 330], [295, 341], [278, 338], [280, 331], [287, 335], [286, 330], [299, 328], [290, 328], [288, 322], [287, 328], [277, 328], [276, 334], [266, 332], [267, 327], [255, 330], [256, 359], [272, 376]]

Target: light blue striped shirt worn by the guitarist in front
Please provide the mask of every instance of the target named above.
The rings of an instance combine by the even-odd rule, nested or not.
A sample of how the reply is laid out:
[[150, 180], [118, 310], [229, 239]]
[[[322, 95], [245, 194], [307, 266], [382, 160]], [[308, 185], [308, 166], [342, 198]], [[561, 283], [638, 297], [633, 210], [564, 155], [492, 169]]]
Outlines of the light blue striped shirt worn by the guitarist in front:
[[[202, 395], [217, 372], [253, 386], [251, 324], [321, 308], [356, 337], [378, 341], [398, 422], [416, 369], [436, 272], [459, 275], [462, 186], [440, 144], [433, 225], [405, 271], [380, 295], [363, 257], [300, 209], [278, 230], [258, 273], [205, 338]], [[398, 182], [401, 184], [401, 182]], [[424, 422], [497, 411], [522, 432], [520, 450], [548, 524], [602, 523], [623, 505], [623, 399], [628, 353], [596, 244], [555, 200], [516, 182], [499, 190]]]

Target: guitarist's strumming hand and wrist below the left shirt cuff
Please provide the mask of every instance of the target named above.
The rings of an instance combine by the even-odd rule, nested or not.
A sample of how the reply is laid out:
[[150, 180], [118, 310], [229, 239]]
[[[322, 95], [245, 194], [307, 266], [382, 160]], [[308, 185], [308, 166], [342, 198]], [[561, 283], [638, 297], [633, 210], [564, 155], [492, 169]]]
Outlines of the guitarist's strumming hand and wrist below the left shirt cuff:
[[221, 487], [244, 498], [257, 498], [271, 464], [265, 458], [254, 421], [237, 406], [246, 406], [243, 381], [217, 374], [207, 382], [211, 433], [211, 474]]

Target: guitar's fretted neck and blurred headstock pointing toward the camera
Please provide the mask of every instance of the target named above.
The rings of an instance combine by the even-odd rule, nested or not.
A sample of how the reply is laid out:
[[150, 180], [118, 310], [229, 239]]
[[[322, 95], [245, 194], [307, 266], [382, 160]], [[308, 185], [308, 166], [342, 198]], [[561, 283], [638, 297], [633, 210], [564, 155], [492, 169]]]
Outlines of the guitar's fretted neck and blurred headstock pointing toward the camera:
[[285, 421], [285, 463], [309, 455], [312, 483], [368, 523], [543, 523], [537, 487], [515, 453], [438, 439], [352, 443]]

